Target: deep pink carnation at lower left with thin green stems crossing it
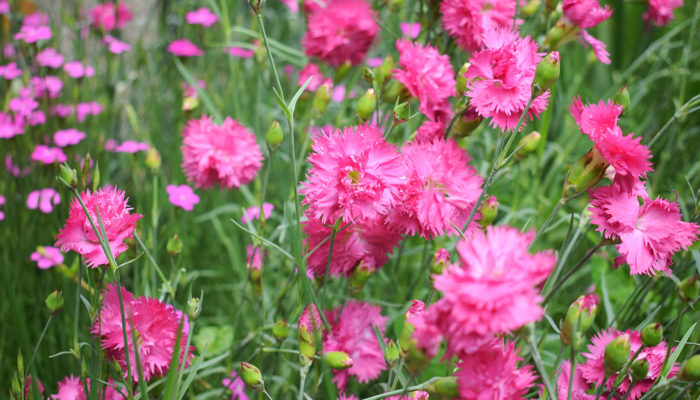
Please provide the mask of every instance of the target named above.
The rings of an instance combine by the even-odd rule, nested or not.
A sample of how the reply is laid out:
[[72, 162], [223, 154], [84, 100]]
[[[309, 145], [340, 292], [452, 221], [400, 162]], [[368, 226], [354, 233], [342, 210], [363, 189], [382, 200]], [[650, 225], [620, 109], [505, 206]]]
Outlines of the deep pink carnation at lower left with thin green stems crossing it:
[[[176, 310], [173, 306], [158, 299], [135, 298], [125, 288], [121, 288], [121, 294], [125, 319], [129, 322], [126, 331], [129, 339], [131, 370], [137, 371], [138, 368], [133, 338], [133, 335], [136, 334], [144, 379], [148, 381], [152, 377], [165, 375], [170, 369], [170, 360], [175, 351], [175, 341], [181, 323], [180, 362], [188, 366], [194, 355], [191, 353], [193, 348], [187, 349], [186, 344], [190, 330], [187, 316], [182, 311]], [[107, 285], [104, 291], [102, 309], [92, 326], [92, 333], [95, 336], [100, 335], [102, 348], [105, 350], [107, 358], [117, 361], [124, 371], [124, 376], [126, 376], [125, 344], [118, 296], [116, 285]], [[138, 374], [132, 374], [132, 376], [135, 381], [139, 380]]]

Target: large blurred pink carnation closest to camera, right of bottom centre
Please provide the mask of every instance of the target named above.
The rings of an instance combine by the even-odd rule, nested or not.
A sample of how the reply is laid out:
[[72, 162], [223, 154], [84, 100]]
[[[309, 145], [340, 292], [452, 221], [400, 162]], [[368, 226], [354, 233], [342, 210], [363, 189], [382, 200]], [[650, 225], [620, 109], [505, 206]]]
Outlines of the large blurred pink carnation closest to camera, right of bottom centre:
[[[490, 334], [512, 331], [539, 320], [542, 297], [537, 285], [554, 267], [551, 251], [529, 254], [535, 233], [520, 233], [508, 226], [474, 229], [457, 243], [461, 265], [433, 275], [433, 286], [443, 298], [433, 303], [416, 324], [419, 345], [428, 329], [447, 338], [448, 354], [462, 356], [480, 347]], [[433, 339], [434, 340], [434, 339]]]

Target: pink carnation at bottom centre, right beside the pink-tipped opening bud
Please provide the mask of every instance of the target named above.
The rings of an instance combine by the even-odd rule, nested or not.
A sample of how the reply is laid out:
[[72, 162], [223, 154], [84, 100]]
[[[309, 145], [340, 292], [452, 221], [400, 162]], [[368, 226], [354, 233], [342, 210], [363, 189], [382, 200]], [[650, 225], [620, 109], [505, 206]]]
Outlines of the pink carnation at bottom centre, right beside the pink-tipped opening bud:
[[386, 369], [384, 354], [379, 345], [374, 327], [384, 334], [386, 317], [381, 308], [370, 303], [349, 301], [345, 306], [326, 311], [331, 323], [331, 332], [323, 333], [323, 351], [343, 351], [353, 361], [352, 367], [333, 370], [333, 382], [341, 391], [350, 376], [360, 383], [375, 379]]

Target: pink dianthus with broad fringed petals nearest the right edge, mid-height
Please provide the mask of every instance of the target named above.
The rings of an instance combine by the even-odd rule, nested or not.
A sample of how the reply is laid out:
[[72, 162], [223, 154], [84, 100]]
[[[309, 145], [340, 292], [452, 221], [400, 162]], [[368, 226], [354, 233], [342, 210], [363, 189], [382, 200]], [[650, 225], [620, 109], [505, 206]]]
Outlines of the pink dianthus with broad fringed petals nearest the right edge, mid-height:
[[698, 237], [698, 225], [681, 220], [675, 201], [652, 200], [643, 187], [625, 190], [613, 183], [590, 191], [592, 222], [615, 247], [633, 275], [670, 272], [673, 254], [687, 249]]

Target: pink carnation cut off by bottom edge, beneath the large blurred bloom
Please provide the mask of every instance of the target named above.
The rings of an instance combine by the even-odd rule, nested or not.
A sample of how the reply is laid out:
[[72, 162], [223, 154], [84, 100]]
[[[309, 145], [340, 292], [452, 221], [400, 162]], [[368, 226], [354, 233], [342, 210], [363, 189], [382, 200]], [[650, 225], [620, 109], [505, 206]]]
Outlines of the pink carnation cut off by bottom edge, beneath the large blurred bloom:
[[522, 399], [535, 382], [530, 365], [518, 368], [523, 359], [515, 343], [496, 339], [457, 364], [455, 375], [462, 399]]

